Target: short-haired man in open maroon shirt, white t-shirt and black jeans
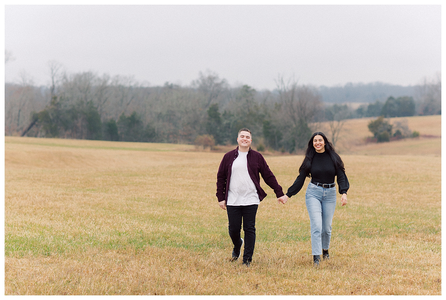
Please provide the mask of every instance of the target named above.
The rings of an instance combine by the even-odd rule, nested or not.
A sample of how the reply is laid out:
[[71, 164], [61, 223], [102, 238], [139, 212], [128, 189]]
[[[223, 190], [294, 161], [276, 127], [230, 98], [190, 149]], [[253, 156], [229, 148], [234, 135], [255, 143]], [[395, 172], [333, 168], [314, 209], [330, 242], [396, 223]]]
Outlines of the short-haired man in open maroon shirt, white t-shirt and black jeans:
[[[239, 130], [239, 146], [223, 156], [217, 173], [217, 198], [219, 206], [227, 211], [228, 229], [234, 249], [232, 259], [240, 257], [244, 244], [243, 264], [249, 266], [256, 243], [256, 213], [260, 201], [266, 197], [260, 186], [260, 176], [277, 196], [277, 202], [283, 203], [284, 193], [277, 183], [273, 172], [262, 154], [251, 149], [251, 131]], [[245, 239], [240, 238], [243, 221]]]

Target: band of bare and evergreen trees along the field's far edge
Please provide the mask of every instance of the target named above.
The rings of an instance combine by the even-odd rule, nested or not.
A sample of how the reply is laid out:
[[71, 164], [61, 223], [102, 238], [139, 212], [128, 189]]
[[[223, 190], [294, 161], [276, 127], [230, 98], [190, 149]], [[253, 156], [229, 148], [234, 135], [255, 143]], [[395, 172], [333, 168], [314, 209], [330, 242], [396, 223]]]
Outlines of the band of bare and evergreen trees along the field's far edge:
[[[369, 104], [365, 113], [325, 105], [314, 86], [281, 77], [273, 91], [231, 87], [210, 71], [189, 86], [145, 86], [107, 74], [67, 75], [50, 63], [50, 80], [47, 87], [35, 87], [26, 78], [5, 84], [6, 135], [172, 143], [193, 143], [207, 135], [223, 145], [235, 144], [238, 130], [247, 127], [260, 148], [291, 153], [305, 147], [313, 122], [355, 118], [360, 112], [416, 114], [411, 97], [389, 98], [380, 114], [379, 102]], [[438, 113], [436, 108], [423, 112]]]

